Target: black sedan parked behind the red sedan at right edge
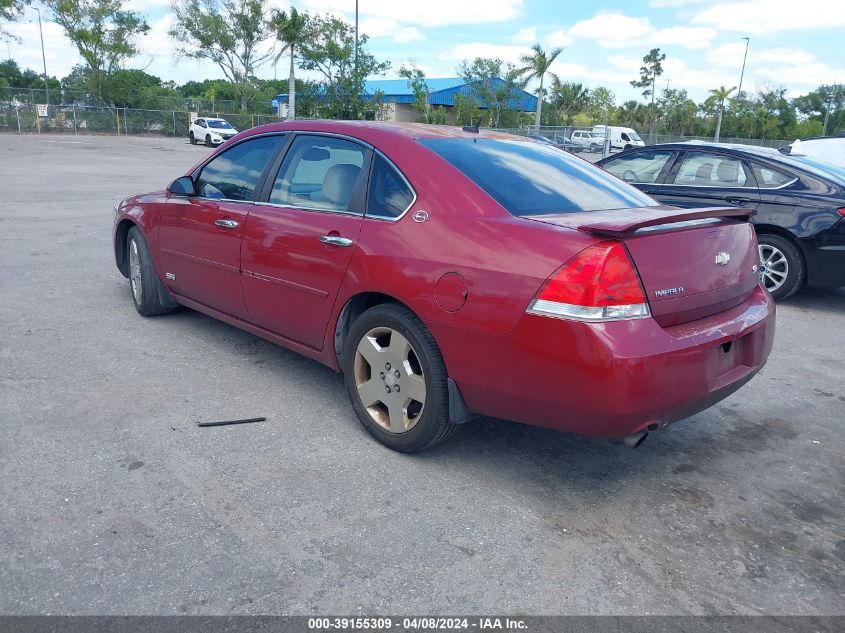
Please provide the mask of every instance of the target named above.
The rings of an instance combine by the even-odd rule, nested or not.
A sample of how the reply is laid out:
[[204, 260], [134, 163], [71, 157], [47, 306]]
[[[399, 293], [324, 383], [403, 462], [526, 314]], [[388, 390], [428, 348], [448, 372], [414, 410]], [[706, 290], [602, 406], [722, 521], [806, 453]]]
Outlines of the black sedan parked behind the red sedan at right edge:
[[664, 204], [756, 209], [761, 272], [775, 299], [805, 283], [845, 286], [845, 169], [704, 142], [630, 149], [597, 164]]

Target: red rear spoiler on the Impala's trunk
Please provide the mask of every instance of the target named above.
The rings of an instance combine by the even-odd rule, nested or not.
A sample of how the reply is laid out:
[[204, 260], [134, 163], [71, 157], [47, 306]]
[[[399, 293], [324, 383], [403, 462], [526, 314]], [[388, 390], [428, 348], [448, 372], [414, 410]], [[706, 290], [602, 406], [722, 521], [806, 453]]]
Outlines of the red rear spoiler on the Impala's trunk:
[[755, 213], [757, 213], [756, 209], [734, 207], [677, 209], [674, 207], [659, 206], [642, 207], [639, 209], [593, 211], [584, 214], [576, 213], [566, 218], [573, 220], [572, 223], [566, 222], [565, 218], [561, 218], [562, 221], [555, 222], [555, 224], [570, 226], [592, 235], [621, 239], [630, 237], [639, 229], [649, 226], [661, 226], [663, 224], [676, 224], [678, 222], [706, 220], [710, 218], [737, 218], [748, 221]]

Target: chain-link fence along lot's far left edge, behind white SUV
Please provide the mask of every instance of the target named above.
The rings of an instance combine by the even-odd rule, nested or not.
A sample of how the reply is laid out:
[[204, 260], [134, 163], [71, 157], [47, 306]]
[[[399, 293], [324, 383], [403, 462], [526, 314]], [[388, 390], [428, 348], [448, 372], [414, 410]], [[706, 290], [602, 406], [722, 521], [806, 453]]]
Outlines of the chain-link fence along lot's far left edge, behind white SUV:
[[[237, 130], [278, 121], [272, 115], [198, 111], [199, 116], [224, 118]], [[21, 134], [117, 134], [186, 137], [190, 113], [178, 110], [135, 110], [70, 105], [0, 102], [0, 131]]]

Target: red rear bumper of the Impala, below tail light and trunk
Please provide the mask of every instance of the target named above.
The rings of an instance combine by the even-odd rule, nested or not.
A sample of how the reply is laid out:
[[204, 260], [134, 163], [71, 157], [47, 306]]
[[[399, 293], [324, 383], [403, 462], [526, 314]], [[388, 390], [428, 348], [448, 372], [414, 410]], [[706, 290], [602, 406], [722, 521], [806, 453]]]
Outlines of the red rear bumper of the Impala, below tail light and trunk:
[[621, 437], [739, 389], [769, 356], [774, 318], [771, 297], [757, 286], [739, 306], [669, 328], [650, 318], [590, 324], [526, 315], [507, 337], [435, 336], [446, 336], [444, 349], [461, 350], [446, 361], [472, 411]]

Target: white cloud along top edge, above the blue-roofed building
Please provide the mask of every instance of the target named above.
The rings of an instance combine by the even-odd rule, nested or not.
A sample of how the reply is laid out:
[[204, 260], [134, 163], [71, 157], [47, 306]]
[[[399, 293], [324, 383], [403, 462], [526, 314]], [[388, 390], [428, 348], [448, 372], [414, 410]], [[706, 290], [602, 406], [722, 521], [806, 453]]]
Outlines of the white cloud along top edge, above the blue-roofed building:
[[[513, 20], [522, 13], [523, 5], [524, 0], [367, 0], [359, 4], [358, 11], [361, 16], [389, 16], [400, 24], [438, 27]], [[349, 0], [305, 0], [304, 8], [349, 15], [354, 5]]]

